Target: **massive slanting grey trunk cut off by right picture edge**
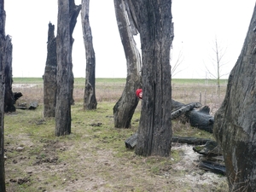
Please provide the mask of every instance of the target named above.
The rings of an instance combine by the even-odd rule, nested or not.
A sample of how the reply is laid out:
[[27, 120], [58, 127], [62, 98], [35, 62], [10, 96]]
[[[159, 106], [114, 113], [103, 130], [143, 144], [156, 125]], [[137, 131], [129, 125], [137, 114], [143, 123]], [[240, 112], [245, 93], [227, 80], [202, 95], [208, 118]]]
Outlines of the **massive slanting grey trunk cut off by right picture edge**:
[[256, 7], [232, 69], [213, 134], [223, 148], [230, 191], [256, 191]]

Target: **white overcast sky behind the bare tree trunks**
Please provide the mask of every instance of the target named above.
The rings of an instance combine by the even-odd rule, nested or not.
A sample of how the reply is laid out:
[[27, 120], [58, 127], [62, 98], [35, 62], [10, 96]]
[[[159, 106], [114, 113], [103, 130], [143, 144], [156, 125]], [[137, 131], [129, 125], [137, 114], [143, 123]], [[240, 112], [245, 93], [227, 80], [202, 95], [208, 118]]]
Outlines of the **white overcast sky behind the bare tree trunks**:
[[[177, 61], [179, 53], [183, 59], [177, 68], [180, 72], [173, 78], [211, 78], [206, 66], [214, 73], [212, 48], [216, 38], [224, 49], [222, 73], [230, 73], [240, 55], [254, 4], [254, 0], [172, 0], [175, 37], [171, 64]], [[6, 34], [12, 37], [13, 43], [14, 77], [42, 77], [49, 21], [55, 25], [56, 35], [57, 0], [6, 0], [5, 10]], [[125, 78], [125, 54], [113, 0], [90, 0], [90, 26], [96, 52], [96, 78]], [[73, 73], [77, 78], [85, 77], [80, 15], [73, 38]]]

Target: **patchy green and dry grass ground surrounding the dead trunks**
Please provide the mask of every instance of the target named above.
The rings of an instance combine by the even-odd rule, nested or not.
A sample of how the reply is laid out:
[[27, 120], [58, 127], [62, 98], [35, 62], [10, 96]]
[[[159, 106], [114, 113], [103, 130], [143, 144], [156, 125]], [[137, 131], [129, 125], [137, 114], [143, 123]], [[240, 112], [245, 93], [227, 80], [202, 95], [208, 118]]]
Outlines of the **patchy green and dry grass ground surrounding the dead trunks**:
[[[125, 148], [125, 139], [137, 131], [140, 103], [131, 129], [113, 127], [113, 105], [125, 81], [96, 82], [98, 107], [83, 111], [84, 85], [75, 82], [72, 106], [72, 134], [55, 137], [55, 119], [43, 118], [43, 84], [16, 87], [23, 96], [18, 102], [37, 101], [34, 110], [17, 110], [5, 115], [6, 182], [8, 192], [20, 191], [218, 191], [227, 189], [225, 177], [201, 171], [184, 156], [182, 146], [173, 146], [169, 158], [140, 157]], [[28, 84], [32, 84], [29, 81]], [[172, 84], [172, 97], [178, 102], [209, 105], [212, 113], [224, 97], [218, 98], [214, 85]], [[173, 121], [175, 135], [210, 137], [212, 135]], [[21, 151], [18, 147], [23, 148]], [[186, 166], [185, 166], [186, 165]]]

